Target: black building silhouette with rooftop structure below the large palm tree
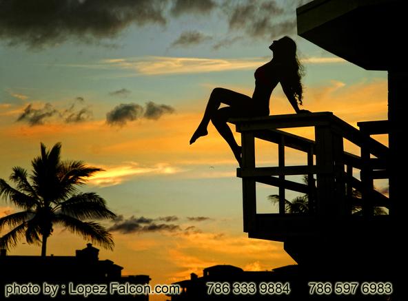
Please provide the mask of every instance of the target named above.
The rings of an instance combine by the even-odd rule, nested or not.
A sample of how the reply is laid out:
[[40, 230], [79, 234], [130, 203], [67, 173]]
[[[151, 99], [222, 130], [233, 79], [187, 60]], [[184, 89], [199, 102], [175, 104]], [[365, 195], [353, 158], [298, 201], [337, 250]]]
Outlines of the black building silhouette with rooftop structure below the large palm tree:
[[[76, 250], [75, 256], [8, 256], [2, 249], [0, 254], [0, 294], [5, 296], [6, 284], [38, 284], [41, 289], [44, 283], [58, 285], [58, 299], [85, 299], [81, 291], [76, 288], [77, 284], [106, 284], [112, 282], [119, 284], [149, 284], [150, 277], [147, 275], [122, 276], [123, 267], [114, 264], [111, 260], [99, 260], [99, 249], [88, 243], [85, 249]], [[74, 288], [76, 294], [68, 291], [69, 286]], [[95, 291], [96, 292], [96, 291]], [[8, 299], [19, 300], [21, 298], [44, 300], [48, 296], [24, 294], [10, 295]], [[49, 297], [48, 297], [49, 298]], [[132, 295], [130, 293], [110, 293], [107, 287], [105, 295], [90, 294], [89, 298], [103, 298], [116, 300], [132, 298], [132, 300], [148, 300], [148, 295]], [[53, 298], [55, 299], [55, 298]]]

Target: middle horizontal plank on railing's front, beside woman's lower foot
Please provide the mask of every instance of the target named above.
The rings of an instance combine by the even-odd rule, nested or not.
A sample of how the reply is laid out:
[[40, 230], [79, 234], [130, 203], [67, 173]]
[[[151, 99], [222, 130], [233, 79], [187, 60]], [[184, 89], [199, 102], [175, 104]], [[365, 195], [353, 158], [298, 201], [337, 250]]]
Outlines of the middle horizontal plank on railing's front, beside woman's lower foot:
[[296, 176], [304, 174], [331, 174], [333, 172], [332, 166], [312, 166], [298, 165], [280, 167], [256, 167], [256, 168], [240, 168], [237, 169], [238, 178], [256, 177], [256, 176]]

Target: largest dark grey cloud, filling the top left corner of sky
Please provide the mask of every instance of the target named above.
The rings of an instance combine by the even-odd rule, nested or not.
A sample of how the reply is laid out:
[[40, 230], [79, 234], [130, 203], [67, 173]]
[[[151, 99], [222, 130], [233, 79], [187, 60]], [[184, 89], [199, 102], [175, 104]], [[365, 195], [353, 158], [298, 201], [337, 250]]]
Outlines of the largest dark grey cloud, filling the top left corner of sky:
[[68, 39], [94, 43], [128, 26], [165, 25], [165, 0], [0, 0], [0, 39], [46, 48]]

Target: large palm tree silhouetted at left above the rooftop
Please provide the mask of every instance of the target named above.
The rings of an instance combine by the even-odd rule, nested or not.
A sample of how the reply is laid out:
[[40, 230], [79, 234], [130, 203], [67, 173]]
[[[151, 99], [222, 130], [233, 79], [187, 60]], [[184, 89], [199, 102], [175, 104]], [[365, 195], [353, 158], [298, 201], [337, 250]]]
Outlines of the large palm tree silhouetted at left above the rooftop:
[[45, 256], [53, 225], [61, 225], [84, 239], [113, 249], [111, 234], [89, 220], [112, 219], [116, 215], [106, 207], [101, 196], [94, 192], [81, 193], [76, 187], [103, 169], [87, 166], [82, 161], [61, 161], [60, 154], [61, 143], [50, 151], [41, 143], [41, 156], [31, 162], [32, 174], [28, 175], [22, 167], [13, 167], [10, 180], [15, 188], [0, 178], [0, 196], [23, 209], [0, 218], [0, 231], [6, 225], [11, 228], [0, 237], [0, 249], [15, 247], [26, 236], [29, 244], [41, 242], [41, 256]]

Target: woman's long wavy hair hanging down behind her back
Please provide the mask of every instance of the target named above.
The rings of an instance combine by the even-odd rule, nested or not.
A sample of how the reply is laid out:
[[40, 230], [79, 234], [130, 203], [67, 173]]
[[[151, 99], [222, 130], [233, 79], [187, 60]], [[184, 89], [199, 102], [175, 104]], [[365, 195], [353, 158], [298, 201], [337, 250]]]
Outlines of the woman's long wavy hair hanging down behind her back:
[[300, 79], [304, 74], [304, 68], [296, 55], [295, 41], [289, 37], [279, 39], [274, 57], [283, 65], [281, 84], [285, 85], [285, 90], [289, 90], [299, 105], [302, 105], [303, 85]]

